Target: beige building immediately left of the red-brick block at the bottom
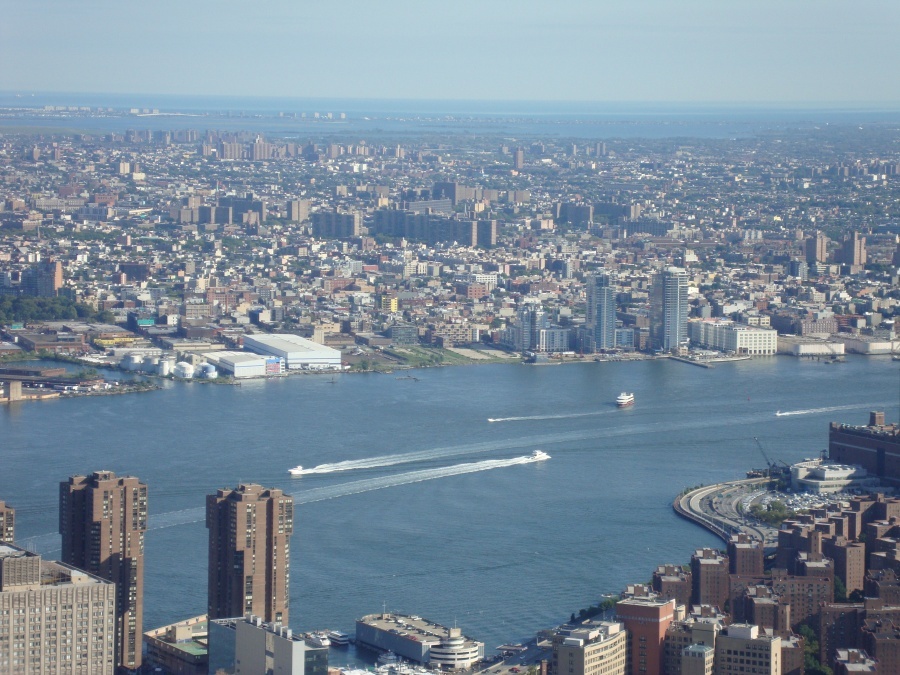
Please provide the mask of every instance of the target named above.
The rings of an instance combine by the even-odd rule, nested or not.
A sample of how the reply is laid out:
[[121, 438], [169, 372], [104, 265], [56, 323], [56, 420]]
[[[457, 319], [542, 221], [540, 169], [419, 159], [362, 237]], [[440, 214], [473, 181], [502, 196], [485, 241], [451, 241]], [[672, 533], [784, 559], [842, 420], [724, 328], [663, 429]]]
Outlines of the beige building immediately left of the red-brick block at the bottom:
[[628, 634], [621, 623], [594, 621], [553, 636], [553, 675], [625, 675]]

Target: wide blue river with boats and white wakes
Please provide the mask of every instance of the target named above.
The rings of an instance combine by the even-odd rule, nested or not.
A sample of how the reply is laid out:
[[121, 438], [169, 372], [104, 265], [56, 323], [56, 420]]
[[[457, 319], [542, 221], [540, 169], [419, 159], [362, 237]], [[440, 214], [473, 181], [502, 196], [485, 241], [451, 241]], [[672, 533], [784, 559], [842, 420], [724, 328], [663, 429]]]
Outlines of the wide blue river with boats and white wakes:
[[[900, 395], [888, 357], [409, 372], [0, 407], [0, 499], [19, 543], [54, 557], [60, 481], [108, 469], [146, 482], [150, 628], [206, 609], [204, 496], [279, 487], [296, 502], [295, 629], [352, 633], [386, 606], [455, 621], [490, 651], [718, 546], [671, 502], [762, 466], [754, 436], [773, 459], [813, 457], [829, 421], [896, 421]], [[636, 404], [619, 410], [626, 390]], [[538, 449], [551, 459], [525, 461]], [[298, 464], [316, 472], [291, 478]]]

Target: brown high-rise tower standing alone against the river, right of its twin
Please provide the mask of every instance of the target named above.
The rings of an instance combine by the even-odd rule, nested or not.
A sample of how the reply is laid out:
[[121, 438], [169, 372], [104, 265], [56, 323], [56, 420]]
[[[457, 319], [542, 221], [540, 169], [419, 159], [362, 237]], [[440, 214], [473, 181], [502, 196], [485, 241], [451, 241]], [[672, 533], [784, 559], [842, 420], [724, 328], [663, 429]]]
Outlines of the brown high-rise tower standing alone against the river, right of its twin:
[[206, 497], [209, 618], [288, 623], [294, 500], [253, 483]]

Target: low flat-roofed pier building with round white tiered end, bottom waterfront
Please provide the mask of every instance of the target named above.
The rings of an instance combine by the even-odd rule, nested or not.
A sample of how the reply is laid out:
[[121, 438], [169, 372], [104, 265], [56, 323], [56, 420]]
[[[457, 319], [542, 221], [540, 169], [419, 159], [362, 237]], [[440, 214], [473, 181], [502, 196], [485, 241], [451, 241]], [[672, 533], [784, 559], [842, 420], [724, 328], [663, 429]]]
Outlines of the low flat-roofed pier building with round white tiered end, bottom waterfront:
[[370, 614], [358, 619], [356, 643], [446, 670], [469, 668], [484, 658], [484, 643], [467, 638], [461, 629], [402, 614]]

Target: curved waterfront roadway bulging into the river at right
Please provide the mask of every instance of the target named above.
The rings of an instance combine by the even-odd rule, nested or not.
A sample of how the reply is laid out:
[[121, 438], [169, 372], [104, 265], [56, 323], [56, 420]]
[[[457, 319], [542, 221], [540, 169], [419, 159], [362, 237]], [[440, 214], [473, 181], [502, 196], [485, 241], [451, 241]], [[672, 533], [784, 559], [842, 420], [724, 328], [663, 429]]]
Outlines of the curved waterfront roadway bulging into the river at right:
[[[744, 532], [774, 547], [778, 530], [763, 523], [750, 522], [743, 514], [749, 504], [766, 492], [768, 478], [746, 478], [715, 485], [706, 485], [686, 492], [675, 499], [672, 508], [682, 518], [705, 527], [722, 541], [732, 534]], [[741, 504], [741, 507], [738, 507]]]

